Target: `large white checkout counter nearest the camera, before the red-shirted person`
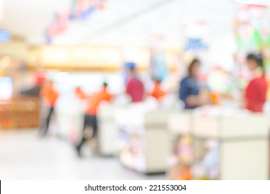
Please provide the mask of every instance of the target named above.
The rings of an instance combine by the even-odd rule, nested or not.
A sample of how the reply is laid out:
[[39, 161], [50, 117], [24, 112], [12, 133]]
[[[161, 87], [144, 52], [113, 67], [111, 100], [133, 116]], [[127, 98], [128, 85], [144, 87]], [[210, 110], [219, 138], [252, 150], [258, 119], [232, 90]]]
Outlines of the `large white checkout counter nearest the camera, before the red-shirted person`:
[[[202, 147], [206, 141], [217, 141], [219, 152], [211, 160], [218, 161], [218, 175], [209, 179], [269, 179], [269, 114], [253, 114], [243, 109], [201, 107], [192, 112], [171, 113], [168, 130], [172, 136], [192, 137], [192, 160], [190, 164], [185, 164], [191, 169], [199, 164], [198, 155], [204, 152]], [[204, 143], [198, 146], [198, 142]], [[177, 163], [180, 164], [181, 159], [174, 166]], [[193, 179], [207, 177], [204, 172], [200, 175], [198, 172], [192, 173]]]

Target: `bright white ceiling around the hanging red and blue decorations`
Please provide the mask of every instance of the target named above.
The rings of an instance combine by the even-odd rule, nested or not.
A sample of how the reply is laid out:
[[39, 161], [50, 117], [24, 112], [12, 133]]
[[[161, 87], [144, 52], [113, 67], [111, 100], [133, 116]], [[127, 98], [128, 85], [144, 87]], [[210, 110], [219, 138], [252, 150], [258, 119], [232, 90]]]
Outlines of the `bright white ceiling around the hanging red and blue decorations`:
[[[0, 28], [24, 37], [29, 44], [45, 44], [46, 27], [56, 12], [66, 10], [71, 3], [2, 1]], [[68, 30], [53, 39], [53, 44], [145, 46], [152, 35], [162, 35], [166, 45], [177, 47], [183, 41], [183, 26], [188, 21], [206, 21], [209, 35], [232, 31], [236, 9], [234, 0], [107, 0], [105, 10], [93, 12], [85, 20], [72, 21]]]

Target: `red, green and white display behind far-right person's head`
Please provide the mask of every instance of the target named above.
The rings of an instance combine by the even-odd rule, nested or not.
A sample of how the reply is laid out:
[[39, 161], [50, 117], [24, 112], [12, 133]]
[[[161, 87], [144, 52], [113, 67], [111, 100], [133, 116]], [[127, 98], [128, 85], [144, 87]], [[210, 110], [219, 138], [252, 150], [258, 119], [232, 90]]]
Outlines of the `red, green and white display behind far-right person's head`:
[[237, 40], [236, 63], [240, 88], [246, 87], [250, 75], [245, 66], [246, 54], [261, 53], [264, 57], [264, 69], [267, 80], [270, 80], [270, 19], [269, 7], [258, 5], [242, 5], [235, 21]]

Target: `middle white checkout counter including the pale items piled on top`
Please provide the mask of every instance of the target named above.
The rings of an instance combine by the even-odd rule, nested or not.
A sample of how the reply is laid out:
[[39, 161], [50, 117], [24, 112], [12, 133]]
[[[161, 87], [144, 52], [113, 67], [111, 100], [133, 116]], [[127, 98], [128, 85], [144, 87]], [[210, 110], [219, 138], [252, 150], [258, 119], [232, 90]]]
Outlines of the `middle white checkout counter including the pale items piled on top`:
[[168, 96], [158, 102], [147, 98], [118, 109], [118, 157], [123, 166], [139, 173], [165, 173], [168, 166], [169, 142], [167, 121], [171, 111], [180, 109], [177, 98]]

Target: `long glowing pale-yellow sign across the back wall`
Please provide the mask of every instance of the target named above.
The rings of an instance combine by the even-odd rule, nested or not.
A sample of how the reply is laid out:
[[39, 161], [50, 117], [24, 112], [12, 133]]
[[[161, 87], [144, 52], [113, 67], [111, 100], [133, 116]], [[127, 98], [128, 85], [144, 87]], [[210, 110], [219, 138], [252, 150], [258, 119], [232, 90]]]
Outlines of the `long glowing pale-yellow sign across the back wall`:
[[88, 46], [42, 46], [33, 48], [28, 55], [28, 64], [36, 65], [37, 56], [43, 67], [118, 69], [121, 55], [118, 47]]

